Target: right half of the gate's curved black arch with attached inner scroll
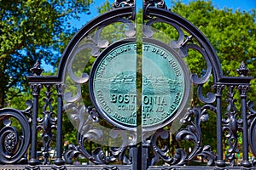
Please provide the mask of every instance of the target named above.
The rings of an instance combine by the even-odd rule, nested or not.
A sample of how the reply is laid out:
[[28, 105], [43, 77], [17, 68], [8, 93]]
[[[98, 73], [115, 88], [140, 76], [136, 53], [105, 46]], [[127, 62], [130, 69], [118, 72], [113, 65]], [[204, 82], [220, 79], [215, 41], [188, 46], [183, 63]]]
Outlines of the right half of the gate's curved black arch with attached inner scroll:
[[[148, 25], [151, 25], [154, 22], [165, 22], [170, 26], [173, 26], [177, 30], [179, 38], [177, 41], [170, 42], [172, 48], [179, 48], [179, 50], [181, 50], [183, 54], [187, 53], [186, 51], [188, 48], [194, 48], [205, 57], [207, 61], [207, 74], [205, 75], [205, 77], [207, 77], [211, 71], [215, 82], [218, 82], [218, 79], [223, 77], [217, 54], [212, 48], [211, 43], [208, 42], [207, 38], [201, 33], [201, 31], [199, 31], [195, 26], [189, 23], [189, 21], [183, 19], [177, 14], [170, 12], [169, 10], [154, 8], [152, 6], [149, 6], [145, 13], [146, 16], [150, 16], [149, 18], [153, 18], [152, 20], [154, 20], [149, 20]], [[189, 37], [183, 38], [184, 34], [182, 30], [187, 31], [189, 33]], [[195, 44], [192, 47], [189, 45], [191, 43], [187, 43], [191, 41], [191, 37], [193, 37], [195, 41], [201, 45], [200, 48], [195, 47]], [[195, 83], [200, 84], [205, 82], [206, 78], [203, 78], [201, 81], [196, 80], [197, 79], [195, 79]]]

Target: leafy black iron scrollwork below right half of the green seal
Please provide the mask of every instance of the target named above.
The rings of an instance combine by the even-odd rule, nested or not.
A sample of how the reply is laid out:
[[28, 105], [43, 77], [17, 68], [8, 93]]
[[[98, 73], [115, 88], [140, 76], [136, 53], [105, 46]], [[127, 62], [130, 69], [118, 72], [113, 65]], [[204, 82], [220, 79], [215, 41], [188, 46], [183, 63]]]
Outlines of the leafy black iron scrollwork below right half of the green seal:
[[195, 106], [193, 109], [190, 109], [181, 120], [183, 123], [189, 122], [190, 125], [177, 132], [176, 139], [178, 142], [187, 140], [194, 143], [194, 149], [189, 155], [187, 155], [187, 152], [182, 148], [178, 148], [173, 157], [168, 156], [168, 148], [165, 146], [164, 149], [160, 149], [156, 144], [156, 140], [158, 138], [167, 139], [169, 133], [165, 129], [159, 129], [150, 139], [154, 157], [149, 164], [154, 165], [154, 163], [162, 159], [170, 165], [184, 165], [188, 161], [193, 160], [195, 156], [201, 156], [208, 160], [207, 165], [212, 165], [216, 156], [213, 154], [211, 147], [209, 145], [201, 146], [201, 122], [207, 122], [208, 110], [215, 111], [216, 108], [212, 105], [205, 105], [202, 108]]

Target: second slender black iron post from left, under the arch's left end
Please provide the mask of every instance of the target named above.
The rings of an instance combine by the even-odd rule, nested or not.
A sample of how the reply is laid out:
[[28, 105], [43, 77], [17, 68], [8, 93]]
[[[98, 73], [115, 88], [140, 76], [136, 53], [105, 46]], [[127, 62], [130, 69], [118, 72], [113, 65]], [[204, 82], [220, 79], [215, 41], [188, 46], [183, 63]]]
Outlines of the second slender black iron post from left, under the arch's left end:
[[63, 84], [56, 84], [55, 88], [57, 89], [58, 95], [58, 111], [57, 111], [57, 141], [56, 141], [56, 160], [55, 164], [61, 166], [64, 164], [62, 159], [62, 107], [63, 107], [63, 99], [62, 99], [62, 91]]

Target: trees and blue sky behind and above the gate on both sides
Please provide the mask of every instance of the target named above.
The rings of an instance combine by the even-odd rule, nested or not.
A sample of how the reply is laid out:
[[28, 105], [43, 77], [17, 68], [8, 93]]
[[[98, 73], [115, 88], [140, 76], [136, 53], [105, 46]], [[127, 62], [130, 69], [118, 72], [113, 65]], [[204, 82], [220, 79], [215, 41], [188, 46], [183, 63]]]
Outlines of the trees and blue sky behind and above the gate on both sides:
[[[71, 2], [75, 3], [76, 1]], [[47, 1], [44, 1], [44, 3], [47, 3]], [[81, 1], [80, 3], [84, 3], [83, 8], [73, 5], [69, 6], [69, 3], [66, 4], [66, 6], [64, 3], [60, 3], [59, 6], [62, 7], [62, 9], [74, 8], [74, 10], [71, 11], [73, 14], [68, 15], [67, 18], [63, 20], [52, 20], [53, 23], [50, 23], [51, 20], [49, 19], [44, 20], [45, 22], [49, 21], [49, 23], [45, 24], [48, 26], [49, 30], [41, 26], [39, 22], [38, 25], [32, 25], [29, 21], [29, 17], [32, 15], [26, 15], [27, 13], [22, 14], [22, 17], [18, 20], [15, 19], [15, 16], [11, 16], [11, 14], [13, 14], [12, 12], [4, 13], [2, 10], [0, 25], [2, 26], [0, 34], [0, 97], [3, 105], [1, 105], [1, 107], [13, 107], [20, 110], [25, 109], [26, 99], [32, 99], [32, 91], [27, 84], [26, 76], [31, 74], [30, 68], [32, 68], [36, 60], [38, 59], [42, 63], [42, 68], [44, 69], [43, 75], [54, 75], [57, 71], [61, 53], [74, 33], [79, 31], [82, 26], [100, 13], [108, 11], [113, 1], [107, 3], [102, 1], [87, 1], [87, 4], [85, 4], [85, 1]], [[12, 11], [19, 8], [19, 5], [20, 3], [15, 7], [14, 3], [9, 4], [7, 1], [1, 1], [0, 8], [9, 8], [9, 11]], [[38, 4], [27, 3], [26, 8], [28, 8], [27, 10], [29, 11], [31, 8], [37, 7], [36, 5]], [[256, 65], [256, 2], [254, 0], [198, 0], [172, 3], [171, 1], [166, 1], [166, 5], [168, 8], [171, 8], [173, 12], [181, 14], [184, 18], [197, 26], [210, 42], [212, 42], [212, 46], [217, 51], [226, 76], [237, 76], [236, 69], [239, 67], [242, 60], [245, 61], [247, 68], [250, 70], [249, 76], [256, 76], [256, 70], [254, 68], [254, 65]], [[79, 8], [79, 10], [76, 12], [75, 8]], [[192, 14], [189, 13], [191, 9], [193, 9]], [[40, 8], [37, 10], [38, 13], [42, 12], [39, 11]], [[61, 10], [61, 8], [56, 10]], [[22, 13], [21, 9], [20, 13]], [[6, 16], [4, 16], [4, 14], [6, 14]], [[31, 14], [33, 14], [33, 11]], [[49, 17], [49, 13], [46, 11], [42, 13], [41, 16]], [[35, 20], [34, 22], [37, 22], [36, 19], [37, 18], [32, 18], [32, 20]], [[23, 22], [22, 20], [25, 21]], [[57, 24], [60, 24], [60, 26], [57, 26]], [[19, 35], [21, 29], [25, 31], [21, 32]], [[44, 29], [47, 31], [44, 32]], [[24, 42], [20, 42], [20, 40], [23, 41], [24, 34], [31, 35], [25, 37]], [[49, 35], [52, 35], [52, 37], [49, 37]], [[58, 41], [51, 41], [50, 38], [54, 40], [57, 39]], [[195, 70], [196, 68], [201, 68], [201, 65], [196, 64], [199, 62], [200, 60], [196, 59], [192, 62], [195, 63]], [[209, 84], [207, 88], [211, 88], [211, 84]], [[252, 92], [256, 92], [255, 81], [252, 82], [251, 88]], [[256, 101], [253, 93], [250, 94], [249, 98]], [[43, 106], [44, 103], [41, 105]], [[54, 105], [54, 107], [56, 106]], [[212, 132], [214, 132], [214, 130], [215, 129], [212, 129]], [[65, 141], [68, 141], [68, 143], [76, 142], [76, 129], [70, 126], [67, 117], [63, 132], [65, 134]], [[206, 129], [206, 132], [209, 132], [207, 134], [212, 134], [212, 136], [205, 136], [206, 143], [213, 141], [212, 139], [216, 139], [213, 133], [211, 133], [211, 127], [210, 129]], [[40, 136], [38, 136], [38, 138], [40, 139]], [[212, 142], [212, 145], [216, 144]]]

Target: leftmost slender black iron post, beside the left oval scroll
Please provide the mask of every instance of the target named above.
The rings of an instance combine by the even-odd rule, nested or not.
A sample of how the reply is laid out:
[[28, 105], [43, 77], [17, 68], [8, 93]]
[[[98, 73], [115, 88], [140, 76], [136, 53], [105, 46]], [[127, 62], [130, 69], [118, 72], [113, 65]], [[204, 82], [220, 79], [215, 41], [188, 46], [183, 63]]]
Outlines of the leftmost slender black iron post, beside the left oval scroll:
[[32, 84], [32, 96], [33, 96], [33, 107], [32, 107], [32, 139], [31, 139], [31, 158], [28, 161], [29, 165], [38, 165], [37, 160], [37, 119], [38, 119], [38, 96], [40, 94], [41, 84]]

